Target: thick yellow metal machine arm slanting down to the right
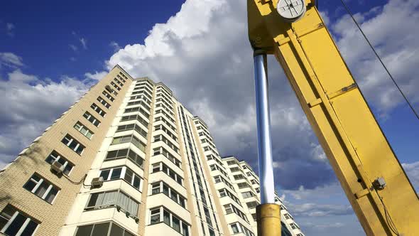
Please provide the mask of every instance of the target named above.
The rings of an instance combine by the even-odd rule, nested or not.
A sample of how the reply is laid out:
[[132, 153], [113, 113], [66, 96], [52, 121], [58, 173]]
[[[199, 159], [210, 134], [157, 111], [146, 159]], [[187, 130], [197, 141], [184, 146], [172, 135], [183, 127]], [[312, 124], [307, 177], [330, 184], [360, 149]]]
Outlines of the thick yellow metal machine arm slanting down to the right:
[[249, 40], [276, 56], [367, 235], [419, 235], [419, 200], [312, 1], [283, 21], [248, 0]]

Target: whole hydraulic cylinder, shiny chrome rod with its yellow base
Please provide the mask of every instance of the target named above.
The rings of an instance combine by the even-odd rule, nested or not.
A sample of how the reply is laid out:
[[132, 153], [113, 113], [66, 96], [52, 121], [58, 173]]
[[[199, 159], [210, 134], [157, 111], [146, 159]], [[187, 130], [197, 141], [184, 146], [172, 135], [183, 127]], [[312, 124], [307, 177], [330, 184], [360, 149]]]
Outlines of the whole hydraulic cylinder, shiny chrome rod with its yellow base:
[[275, 204], [267, 70], [266, 52], [255, 50], [256, 121], [259, 176], [261, 178], [261, 205], [256, 207], [256, 221], [259, 236], [277, 236], [281, 235], [281, 208]]

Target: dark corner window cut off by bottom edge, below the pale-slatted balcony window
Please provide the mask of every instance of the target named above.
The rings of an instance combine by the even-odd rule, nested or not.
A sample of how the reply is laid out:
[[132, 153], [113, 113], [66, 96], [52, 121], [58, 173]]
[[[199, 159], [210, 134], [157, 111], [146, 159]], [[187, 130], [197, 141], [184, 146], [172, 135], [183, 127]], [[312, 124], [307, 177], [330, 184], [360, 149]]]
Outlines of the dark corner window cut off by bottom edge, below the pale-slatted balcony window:
[[117, 225], [115, 222], [99, 222], [93, 225], [81, 225], [77, 227], [75, 236], [134, 236], [135, 234], [129, 232]]

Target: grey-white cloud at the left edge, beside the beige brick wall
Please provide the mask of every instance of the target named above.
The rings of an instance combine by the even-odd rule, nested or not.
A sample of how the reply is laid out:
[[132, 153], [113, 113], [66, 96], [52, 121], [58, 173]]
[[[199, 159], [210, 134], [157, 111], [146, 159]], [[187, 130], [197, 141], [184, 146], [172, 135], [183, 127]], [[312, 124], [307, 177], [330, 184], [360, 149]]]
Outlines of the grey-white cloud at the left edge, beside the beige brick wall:
[[13, 161], [89, 88], [75, 77], [55, 81], [20, 69], [8, 73], [6, 81], [0, 80], [0, 165]]

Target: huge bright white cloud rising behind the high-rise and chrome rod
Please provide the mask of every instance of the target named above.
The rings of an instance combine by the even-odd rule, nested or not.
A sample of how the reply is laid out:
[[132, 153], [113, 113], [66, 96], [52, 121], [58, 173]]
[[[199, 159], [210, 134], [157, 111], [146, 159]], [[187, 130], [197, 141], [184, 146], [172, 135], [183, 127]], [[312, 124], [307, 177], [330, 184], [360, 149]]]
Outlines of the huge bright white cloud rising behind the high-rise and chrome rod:
[[[244, 1], [186, 1], [153, 26], [144, 44], [114, 53], [107, 67], [119, 64], [131, 75], [164, 82], [207, 122], [222, 156], [257, 169], [253, 57], [244, 19]], [[269, 64], [273, 159], [281, 163], [276, 183], [293, 189], [328, 183], [333, 173], [320, 153], [312, 157], [317, 141], [300, 104], [278, 63], [269, 58]]]

